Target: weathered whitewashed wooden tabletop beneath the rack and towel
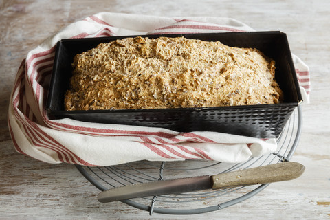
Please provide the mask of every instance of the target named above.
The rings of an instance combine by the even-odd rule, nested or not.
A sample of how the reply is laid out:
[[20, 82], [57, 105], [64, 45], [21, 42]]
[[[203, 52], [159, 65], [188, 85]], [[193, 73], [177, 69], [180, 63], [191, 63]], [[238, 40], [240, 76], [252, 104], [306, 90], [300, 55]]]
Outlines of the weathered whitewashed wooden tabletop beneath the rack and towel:
[[[153, 214], [121, 202], [99, 203], [98, 190], [71, 164], [45, 164], [14, 151], [7, 125], [10, 92], [26, 54], [69, 23], [98, 12], [232, 17], [256, 30], [287, 33], [311, 71], [311, 103], [292, 161], [292, 181], [217, 212]], [[0, 1], [0, 219], [330, 219], [330, 1]]]

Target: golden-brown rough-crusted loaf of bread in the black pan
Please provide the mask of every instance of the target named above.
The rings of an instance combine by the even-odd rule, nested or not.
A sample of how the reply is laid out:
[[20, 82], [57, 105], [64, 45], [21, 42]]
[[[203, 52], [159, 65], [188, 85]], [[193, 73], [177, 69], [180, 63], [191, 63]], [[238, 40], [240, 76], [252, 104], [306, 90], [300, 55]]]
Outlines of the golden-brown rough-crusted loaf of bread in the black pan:
[[72, 63], [66, 110], [164, 109], [283, 101], [275, 61], [253, 48], [184, 37], [102, 43]]

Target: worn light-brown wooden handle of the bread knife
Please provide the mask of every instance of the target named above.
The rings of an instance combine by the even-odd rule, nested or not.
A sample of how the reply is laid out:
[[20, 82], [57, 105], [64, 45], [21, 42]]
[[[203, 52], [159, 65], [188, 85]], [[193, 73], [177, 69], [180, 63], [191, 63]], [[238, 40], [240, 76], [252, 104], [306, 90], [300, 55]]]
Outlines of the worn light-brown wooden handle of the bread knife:
[[276, 181], [296, 179], [304, 173], [305, 166], [296, 162], [281, 162], [230, 173], [211, 176], [212, 188], [228, 188], [268, 184]]

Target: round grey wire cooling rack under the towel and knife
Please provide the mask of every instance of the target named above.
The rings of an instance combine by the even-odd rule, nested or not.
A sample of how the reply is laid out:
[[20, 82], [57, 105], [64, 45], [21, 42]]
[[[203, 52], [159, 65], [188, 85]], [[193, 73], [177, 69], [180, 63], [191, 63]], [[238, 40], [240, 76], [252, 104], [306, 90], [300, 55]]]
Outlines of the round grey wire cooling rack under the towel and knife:
[[[118, 186], [140, 184], [159, 179], [174, 179], [197, 175], [214, 175], [243, 170], [267, 164], [286, 162], [292, 158], [300, 139], [302, 128], [301, 107], [296, 108], [277, 139], [274, 153], [251, 158], [240, 164], [189, 159], [183, 162], [132, 162], [116, 166], [87, 167], [76, 165], [80, 173], [99, 190]], [[152, 214], [200, 214], [213, 212], [244, 201], [261, 192], [269, 184], [243, 186], [219, 190], [203, 190], [175, 195], [126, 199], [123, 203]]]

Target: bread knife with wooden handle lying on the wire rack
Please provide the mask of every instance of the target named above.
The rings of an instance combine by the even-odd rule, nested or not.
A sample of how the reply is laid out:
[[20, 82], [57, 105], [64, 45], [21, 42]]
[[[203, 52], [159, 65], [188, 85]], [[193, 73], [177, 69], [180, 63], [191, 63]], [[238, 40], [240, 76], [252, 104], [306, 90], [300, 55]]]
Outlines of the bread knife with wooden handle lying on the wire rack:
[[137, 197], [168, 195], [197, 190], [230, 188], [296, 179], [303, 174], [305, 166], [297, 162], [281, 162], [246, 170], [217, 175], [204, 175], [181, 179], [159, 180], [131, 186], [120, 186], [98, 194], [102, 203], [133, 199]]

